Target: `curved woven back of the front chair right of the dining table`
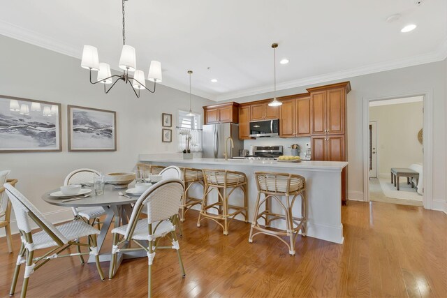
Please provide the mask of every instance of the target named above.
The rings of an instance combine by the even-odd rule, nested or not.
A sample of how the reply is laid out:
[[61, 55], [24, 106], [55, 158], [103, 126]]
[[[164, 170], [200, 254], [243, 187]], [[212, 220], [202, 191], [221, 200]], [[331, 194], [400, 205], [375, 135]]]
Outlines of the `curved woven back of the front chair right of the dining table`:
[[138, 218], [145, 205], [147, 205], [148, 223], [163, 221], [177, 216], [183, 192], [184, 182], [177, 178], [163, 179], [149, 187], [135, 203], [124, 237], [131, 239], [133, 230], [135, 230]]

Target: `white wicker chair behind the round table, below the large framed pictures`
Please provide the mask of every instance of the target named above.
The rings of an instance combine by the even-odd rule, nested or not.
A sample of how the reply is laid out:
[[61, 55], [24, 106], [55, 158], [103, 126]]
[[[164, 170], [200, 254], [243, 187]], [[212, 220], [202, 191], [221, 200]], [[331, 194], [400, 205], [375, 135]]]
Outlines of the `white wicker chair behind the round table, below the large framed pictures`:
[[[93, 182], [93, 177], [99, 175], [100, 173], [96, 170], [85, 168], [74, 170], [67, 175], [64, 185]], [[88, 224], [94, 225], [96, 223], [98, 228], [99, 217], [105, 215], [105, 210], [103, 207], [72, 207], [71, 211], [73, 211], [75, 219], [85, 218]]]

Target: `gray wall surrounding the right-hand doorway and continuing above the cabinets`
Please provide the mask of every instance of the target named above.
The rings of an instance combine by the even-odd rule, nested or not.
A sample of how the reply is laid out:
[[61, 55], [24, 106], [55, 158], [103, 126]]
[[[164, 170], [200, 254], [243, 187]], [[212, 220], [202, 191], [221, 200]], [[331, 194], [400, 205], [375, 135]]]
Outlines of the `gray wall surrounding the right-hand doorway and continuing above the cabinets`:
[[[439, 202], [438, 209], [446, 209], [446, 82], [447, 62], [439, 61], [419, 66], [388, 70], [370, 75], [349, 77], [344, 80], [320, 83], [277, 91], [277, 96], [287, 96], [306, 92], [306, 88], [351, 81], [352, 91], [348, 94], [348, 160], [349, 160], [349, 198], [362, 200], [363, 186], [363, 148], [362, 123], [363, 101], [368, 98], [400, 96], [411, 92], [431, 91], [433, 94], [433, 200]], [[235, 98], [237, 103], [272, 98], [265, 93], [255, 96]], [[402, 96], [401, 96], [402, 97]]]

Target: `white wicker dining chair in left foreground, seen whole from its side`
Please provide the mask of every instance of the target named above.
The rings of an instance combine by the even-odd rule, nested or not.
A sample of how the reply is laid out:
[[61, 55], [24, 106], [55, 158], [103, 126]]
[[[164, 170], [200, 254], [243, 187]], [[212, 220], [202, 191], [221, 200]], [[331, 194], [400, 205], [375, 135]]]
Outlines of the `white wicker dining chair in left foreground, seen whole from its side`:
[[[96, 269], [98, 269], [101, 280], [104, 280], [104, 274], [99, 264], [99, 252], [96, 244], [96, 235], [99, 230], [83, 221], [70, 221], [58, 226], [52, 225], [50, 221], [41, 214], [34, 204], [29, 202], [11, 184], [3, 184], [6, 188], [6, 194], [10, 202], [13, 204], [15, 218], [17, 219], [17, 227], [20, 232], [22, 246], [17, 257], [17, 265], [15, 266], [13, 283], [11, 284], [9, 295], [14, 295], [15, 285], [20, 273], [20, 266], [25, 264], [24, 280], [22, 284], [22, 292], [20, 297], [27, 295], [29, 276], [37, 269], [40, 269], [46, 262], [56, 258], [71, 257], [76, 255], [94, 255], [96, 260]], [[42, 230], [40, 232], [32, 232], [34, 222]], [[80, 243], [78, 239], [88, 237], [89, 246], [86, 243]], [[70, 246], [87, 246], [89, 251], [86, 253], [68, 253], [60, 255]], [[45, 248], [43, 255], [35, 258], [34, 251]], [[48, 250], [47, 248], [52, 248]]]

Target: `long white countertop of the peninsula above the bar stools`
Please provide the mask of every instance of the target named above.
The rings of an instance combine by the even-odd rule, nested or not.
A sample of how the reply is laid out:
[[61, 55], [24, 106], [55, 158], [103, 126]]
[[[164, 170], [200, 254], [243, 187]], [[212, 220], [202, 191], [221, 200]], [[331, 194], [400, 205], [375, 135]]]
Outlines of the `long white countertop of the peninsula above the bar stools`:
[[253, 161], [247, 159], [228, 159], [224, 158], [156, 158], [152, 154], [140, 154], [140, 161], [151, 163], [187, 163], [200, 165], [236, 165], [249, 167], [282, 167], [294, 170], [328, 171], [341, 172], [348, 163], [346, 161], [301, 161], [300, 163], [288, 163], [280, 161]]

